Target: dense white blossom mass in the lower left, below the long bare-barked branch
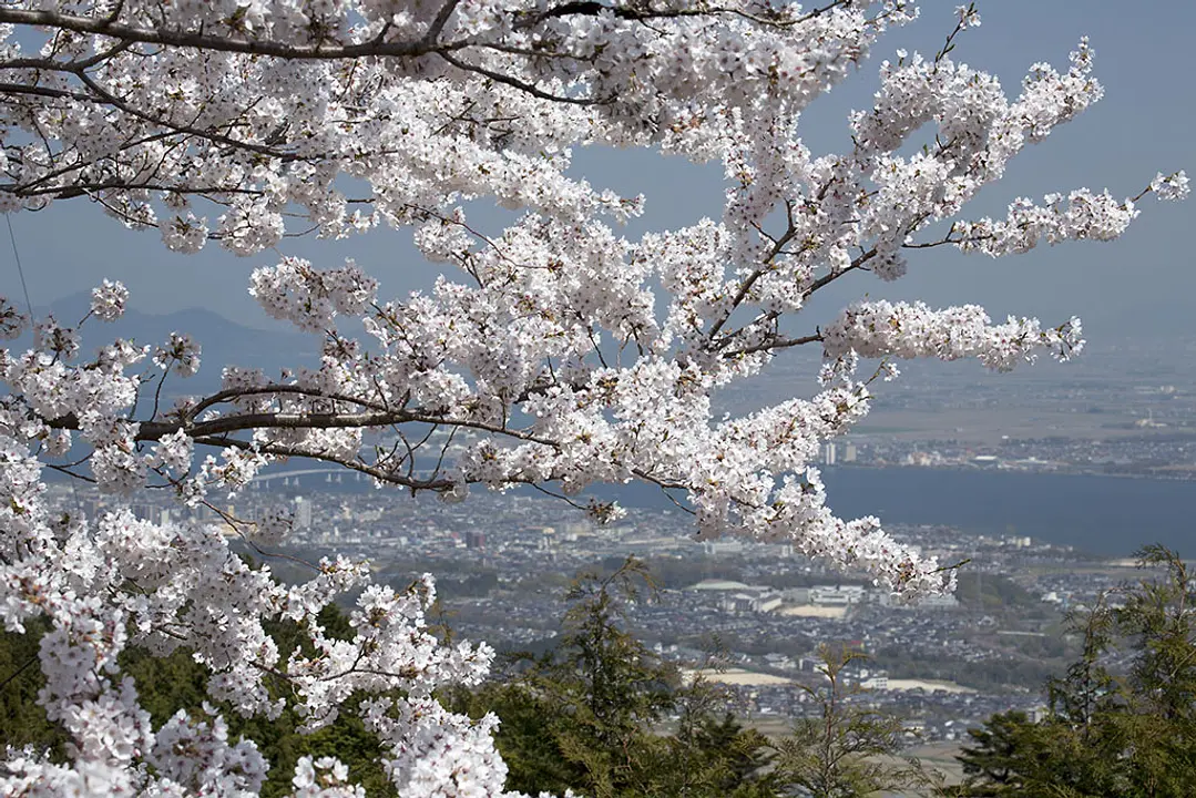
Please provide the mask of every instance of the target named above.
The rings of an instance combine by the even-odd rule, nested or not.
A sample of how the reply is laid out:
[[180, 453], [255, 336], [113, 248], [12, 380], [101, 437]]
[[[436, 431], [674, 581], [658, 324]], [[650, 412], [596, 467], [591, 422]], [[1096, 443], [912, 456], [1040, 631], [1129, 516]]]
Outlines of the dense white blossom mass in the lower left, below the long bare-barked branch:
[[[230, 739], [214, 708], [179, 711], [152, 727], [116, 664], [129, 646], [189, 647], [210, 670], [210, 695], [245, 714], [275, 715], [281, 705], [263, 680], [283, 678], [312, 729], [335, 719], [354, 690], [389, 696], [373, 699], [362, 717], [390, 749], [386, 766], [403, 794], [501, 793], [506, 768], [490, 737], [495, 719], [475, 723], [431, 698], [441, 684], [476, 683], [493, 656], [484, 645], [446, 647], [428, 632], [431, 578], [402, 593], [366, 587], [353, 614], [356, 634], [334, 640], [316, 614], [368, 583], [365, 564], [325, 560], [315, 579], [288, 587], [268, 568], [249, 568], [215, 528], [154, 525], [128, 511], [94, 526], [81, 518], [55, 523], [37, 497], [37, 461], [25, 455], [23, 467], [17, 451], [6, 453], [12, 508], [5, 542], [24, 554], [0, 567], [0, 616], [10, 631], [33, 615], [51, 622], [41, 641], [47, 681], [38, 702], [69, 735], [72, 762], [10, 751], [0, 774], [5, 794], [257, 793], [269, 765], [252, 741]], [[316, 654], [285, 658], [261, 626], [271, 617], [307, 628]], [[335, 761], [300, 762], [294, 786], [301, 796], [364, 794]]]

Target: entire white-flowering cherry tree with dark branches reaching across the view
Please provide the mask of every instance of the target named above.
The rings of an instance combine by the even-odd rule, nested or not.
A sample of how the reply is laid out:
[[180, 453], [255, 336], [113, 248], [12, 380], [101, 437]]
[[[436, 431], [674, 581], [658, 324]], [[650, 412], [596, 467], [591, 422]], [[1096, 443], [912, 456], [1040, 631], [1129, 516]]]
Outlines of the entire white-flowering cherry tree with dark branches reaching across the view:
[[[123, 286], [97, 287], [74, 327], [0, 305], [10, 339], [33, 333], [28, 349], [0, 352], [0, 617], [10, 631], [49, 619], [38, 700], [73, 741], [67, 763], [8, 751], [0, 792], [255, 794], [267, 763], [214, 708], [152, 726], [116, 662], [128, 647], [193, 650], [210, 696], [245, 714], [279, 713], [267, 683], [281, 680], [311, 729], [349, 694], [374, 695], [362, 720], [404, 796], [499, 793], [505, 775], [496, 720], [453, 715], [433, 696], [481, 680], [493, 652], [431, 634], [431, 579], [395, 592], [341, 558], [287, 586], [203, 524], [56, 516], [48, 468], [117, 494], [161, 486], [197, 506], [306, 457], [446, 500], [539, 486], [599, 519], [621, 511], [585, 505], [584, 488], [643, 481], [690, 510], [698, 535], [789, 542], [907, 598], [951, 590], [950, 567], [824, 504], [812, 462], [868, 410], [875, 376], [859, 360], [879, 359], [886, 376], [904, 358], [1008, 370], [1075, 354], [1079, 321], [861, 300], [814, 323], [803, 306], [844, 278], [899, 279], [920, 248], [997, 257], [1109, 240], [1143, 195], [1180, 199], [1188, 181], [1160, 173], [1129, 199], [1076, 189], [970, 217], [968, 201], [1012, 157], [1102, 96], [1085, 41], [1062, 68], [1032, 65], [1015, 97], [953, 61], [957, 37], [980, 23], [972, 6], [939, 53], [880, 65], [848, 151], [812, 153], [804, 109], [915, 17], [907, 0], [0, 4], [4, 212], [86, 197], [172, 250], [238, 255], [389, 226], [448, 267], [429, 292], [390, 301], [352, 262], [281, 257], [255, 270], [252, 296], [319, 339], [319, 366], [270, 376], [218, 364], [221, 390], [172, 407], [159, 402], [163, 380], [196, 372], [197, 342], [117, 340], [94, 357], [81, 345], [81, 328], [121, 316]], [[721, 219], [629, 239], [620, 225], [642, 199], [572, 175], [586, 145], [720, 162]], [[464, 209], [475, 199], [521, 215], [480, 230]], [[366, 340], [343, 331], [346, 318]], [[824, 355], [811, 396], [712, 414], [712, 391], [794, 347]], [[463, 453], [446, 458], [433, 430], [459, 433]], [[291, 523], [226, 520], [258, 547]], [[346, 592], [360, 595], [349, 641], [316, 620]], [[282, 657], [267, 619], [298, 622], [310, 650]], [[301, 761], [294, 790], [364, 794], [334, 760]]]

